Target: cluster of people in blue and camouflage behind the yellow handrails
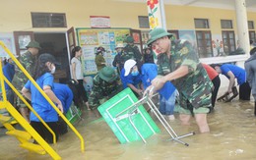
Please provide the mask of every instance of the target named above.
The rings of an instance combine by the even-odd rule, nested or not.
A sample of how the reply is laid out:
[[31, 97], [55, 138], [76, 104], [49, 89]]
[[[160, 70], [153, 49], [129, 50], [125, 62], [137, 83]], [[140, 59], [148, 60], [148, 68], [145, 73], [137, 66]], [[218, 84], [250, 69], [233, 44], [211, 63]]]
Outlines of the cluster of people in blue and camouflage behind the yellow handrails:
[[[38, 55], [41, 48], [37, 41], [31, 41], [27, 45], [27, 49], [28, 51], [18, 58], [19, 62], [59, 110], [63, 114], [67, 113], [73, 101], [73, 92], [68, 85], [54, 82], [53, 74], [56, 71], [56, 65], [59, 65], [59, 63], [49, 53]], [[67, 132], [67, 128], [65, 127], [61, 130], [66, 130], [66, 132], [60, 131], [60, 119], [57, 112], [32, 84], [32, 81], [25, 76], [23, 71], [14, 65], [10, 57], [6, 59], [3, 73], [7, 80], [11, 81], [14, 87], [25, 96], [26, 100], [32, 105], [32, 108], [42, 120], [52, 129], [56, 134], [56, 139], [58, 139], [59, 134]], [[37, 133], [47, 142], [52, 143], [52, 134], [29, 111], [25, 102], [13, 93], [13, 90], [7, 83], [5, 83], [5, 88], [8, 101], [20, 111], [22, 116], [32, 125], [32, 128]]]

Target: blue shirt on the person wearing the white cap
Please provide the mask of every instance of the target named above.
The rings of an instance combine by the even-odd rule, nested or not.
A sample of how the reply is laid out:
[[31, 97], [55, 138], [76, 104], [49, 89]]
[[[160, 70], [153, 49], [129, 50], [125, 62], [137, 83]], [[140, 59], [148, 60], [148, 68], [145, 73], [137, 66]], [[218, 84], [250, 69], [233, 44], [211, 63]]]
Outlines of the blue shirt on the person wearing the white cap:
[[124, 77], [125, 70], [122, 69], [121, 74], [120, 74], [120, 79], [122, 80], [123, 83], [123, 88], [125, 89], [127, 87], [128, 83], [133, 84], [135, 87], [138, 87], [139, 83], [142, 82], [141, 74], [138, 76], [134, 77], [130, 73], [127, 77]]

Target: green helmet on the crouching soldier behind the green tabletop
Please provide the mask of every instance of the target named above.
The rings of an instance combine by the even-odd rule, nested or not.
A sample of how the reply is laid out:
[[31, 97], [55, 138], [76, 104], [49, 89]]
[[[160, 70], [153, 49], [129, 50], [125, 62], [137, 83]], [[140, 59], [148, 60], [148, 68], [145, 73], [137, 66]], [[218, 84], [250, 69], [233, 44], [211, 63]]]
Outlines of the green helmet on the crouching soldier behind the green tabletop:
[[107, 82], [113, 81], [117, 79], [117, 75], [113, 68], [111, 67], [104, 67], [98, 72], [98, 76], [100, 79], [105, 80]]

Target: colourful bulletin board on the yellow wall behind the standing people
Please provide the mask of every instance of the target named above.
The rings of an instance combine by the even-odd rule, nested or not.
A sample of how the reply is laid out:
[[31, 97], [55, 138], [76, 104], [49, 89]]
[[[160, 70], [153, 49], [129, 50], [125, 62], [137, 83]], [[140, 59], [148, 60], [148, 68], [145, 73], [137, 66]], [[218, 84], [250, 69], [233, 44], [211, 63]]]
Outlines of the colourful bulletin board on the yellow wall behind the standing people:
[[[106, 66], [112, 66], [116, 55], [115, 46], [123, 43], [130, 28], [76, 28], [78, 44], [82, 47], [82, 64], [84, 76], [96, 75], [96, 48], [102, 46], [106, 53], [103, 55]], [[125, 46], [125, 44], [124, 44]]]

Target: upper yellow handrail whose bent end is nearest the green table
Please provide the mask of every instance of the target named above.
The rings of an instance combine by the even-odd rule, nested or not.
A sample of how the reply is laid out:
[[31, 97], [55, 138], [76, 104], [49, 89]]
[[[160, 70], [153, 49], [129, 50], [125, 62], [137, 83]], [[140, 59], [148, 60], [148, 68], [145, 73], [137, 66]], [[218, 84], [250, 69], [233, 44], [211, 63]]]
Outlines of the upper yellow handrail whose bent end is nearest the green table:
[[[5, 46], [5, 44], [0, 41], [0, 45], [3, 49], [8, 53], [8, 55], [12, 58], [15, 64], [23, 71], [23, 73], [27, 76], [29, 80], [32, 81], [32, 84], [38, 89], [38, 91], [42, 94], [42, 96], [48, 101], [48, 103], [54, 108], [54, 110], [59, 114], [59, 116], [67, 123], [70, 129], [76, 133], [76, 135], [80, 138], [81, 141], [81, 151], [85, 151], [85, 142], [84, 138], [78, 131], [73, 127], [73, 125], [66, 119], [66, 117], [60, 112], [60, 110], [56, 107], [56, 105], [50, 100], [50, 98], [46, 95], [46, 93], [39, 87], [39, 85], [32, 79], [31, 75], [26, 71], [26, 69], [21, 65], [21, 63], [15, 58], [15, 56], [11, 53], [11, 51]], [[3, 83], [3, 81], [2, 81]], [[4, 90], [5, 91], [5, 90]]]

